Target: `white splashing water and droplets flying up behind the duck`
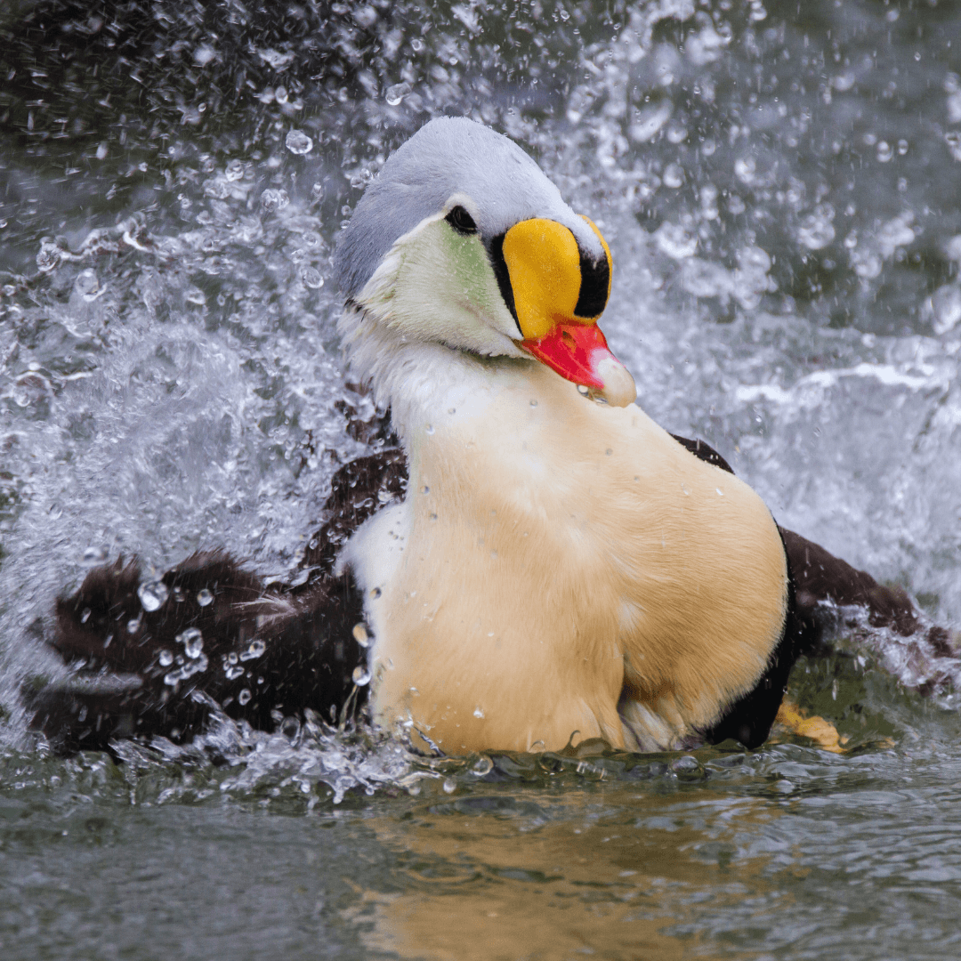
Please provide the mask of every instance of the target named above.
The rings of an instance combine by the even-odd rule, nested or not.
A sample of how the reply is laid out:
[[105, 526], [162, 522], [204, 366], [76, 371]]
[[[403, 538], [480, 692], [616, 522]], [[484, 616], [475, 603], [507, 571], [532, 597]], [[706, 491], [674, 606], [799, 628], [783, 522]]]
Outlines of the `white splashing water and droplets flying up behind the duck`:
[[[37, 641], [90, 564], [139, 554], [150, 611], [194, 550], [263, 572], [299, 559], [333, 470], [369, 451], [343, 411], [376, 413], [333, 333], [335, 237], [390, 150], [445, 112], [517, 139], [604, 231], [604, 330], [656, 420], [718, 447], [781, 523], [961, 617], [961, 222], [931, 186], [961, 187], [947, 48], [908, 57], [885, 37], [911, 28], [853, 4], [803, 22], [688, 0], [511, 10], [298, 8], [282, 36], [266, 9], [141, 22], [132, 4], [114, 27], [155, 53], [122, 85], [104, 24], [58, 28], [78, 82], [42, 86], [27, 63], [53, 35], [2, 21], [9, 741], [25, 743], [19, 686], [62, 672]], [[217, 41], [188, 43], [201, 29]], [[203, 658], [182, 643], [173, 683]], [[866, 655], [914, 686], [941, 670], [898, 643]], [[306, 763], [281, 735], [231, 736], [251, 772], [236, 783]], [[337, 768], [330, 737], [311, 757], [340, 772], [335, 798], [401, 776], [386, 748]]]

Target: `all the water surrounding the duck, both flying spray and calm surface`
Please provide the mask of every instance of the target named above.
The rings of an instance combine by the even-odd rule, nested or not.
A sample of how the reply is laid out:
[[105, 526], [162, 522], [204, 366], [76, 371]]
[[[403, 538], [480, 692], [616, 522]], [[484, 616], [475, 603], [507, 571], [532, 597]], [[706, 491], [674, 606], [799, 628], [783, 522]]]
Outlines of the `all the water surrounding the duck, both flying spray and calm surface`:
[[957, 624], [956, 5], [22, 0], [0, 29], [5, 958], [957, 956], [955, 696], [912, 690], [956, 664], [857, 623], [792, 678], [843, 753], [428, 761], [289, 718], [115, 765], [51, 756], [17, 697], [94, 564], [296, 563], [369, 450], [343, 412], [376, 416], [333, 242], [441, 112], [604, 231], [660, 423]]

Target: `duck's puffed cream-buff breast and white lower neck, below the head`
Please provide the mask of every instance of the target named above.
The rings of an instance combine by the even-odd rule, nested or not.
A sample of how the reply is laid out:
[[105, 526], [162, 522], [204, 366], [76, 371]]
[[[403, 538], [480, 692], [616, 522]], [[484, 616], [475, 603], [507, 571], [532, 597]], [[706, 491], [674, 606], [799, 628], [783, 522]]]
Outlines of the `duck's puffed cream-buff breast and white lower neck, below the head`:
[[770, 512], [639, 407], [477, 368], [411, 418], [407, 500], [344, 555], [375, 718], [449, 753], [653, 750], [709, 726], [783, 628]]

